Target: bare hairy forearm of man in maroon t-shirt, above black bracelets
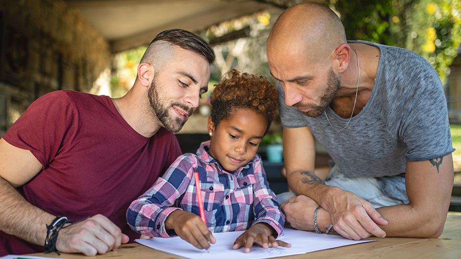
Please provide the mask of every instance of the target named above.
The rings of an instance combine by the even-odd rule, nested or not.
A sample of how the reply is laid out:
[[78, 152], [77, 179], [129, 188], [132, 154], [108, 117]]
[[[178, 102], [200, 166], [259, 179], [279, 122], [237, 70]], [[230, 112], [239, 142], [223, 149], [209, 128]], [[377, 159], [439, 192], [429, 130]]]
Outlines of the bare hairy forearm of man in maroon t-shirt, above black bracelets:
[[28, 203], [7, 181], [0, 177], [0, 230], [28, 242], [43, 245], [46, 226], [55, 216]]

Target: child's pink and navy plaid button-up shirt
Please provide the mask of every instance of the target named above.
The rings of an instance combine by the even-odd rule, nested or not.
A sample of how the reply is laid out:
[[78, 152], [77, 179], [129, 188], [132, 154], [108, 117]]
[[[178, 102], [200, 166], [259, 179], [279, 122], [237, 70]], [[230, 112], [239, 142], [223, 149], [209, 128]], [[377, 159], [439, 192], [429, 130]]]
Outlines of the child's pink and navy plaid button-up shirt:
[[192, 164], [197, 165], [206, 225], [212, 232], [246, 230], [265, 222], [282, 234], [285, 217], [276, 195], [269, 188], [261, 158], [256, 155], [234, 172], [225, 171], [208, 154], [209, 142], [197, 154], [184, 154], [154, 185], [128, 208], [128, 225], [149, 236], [170, 237], [165, 219], [175, 210], [200, 215]]

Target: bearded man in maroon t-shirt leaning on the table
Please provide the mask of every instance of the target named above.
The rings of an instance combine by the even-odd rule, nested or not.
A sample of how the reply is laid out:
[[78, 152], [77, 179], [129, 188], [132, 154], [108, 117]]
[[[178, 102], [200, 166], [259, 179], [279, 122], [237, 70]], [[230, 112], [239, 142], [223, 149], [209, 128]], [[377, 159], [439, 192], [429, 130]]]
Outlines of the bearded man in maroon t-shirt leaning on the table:
[[202, 38], [168, 30], [122, 98], [55, 91], [34, 101], [0, 139], [0, 256], [43, 252], [46, 225], [66, 222], [58, 216], [80, 221], [50, 229], [51, 251], [103, 254], [139, 237], [125, 213], [180, 155], [173, 133], [207, 91], [213, 61]]

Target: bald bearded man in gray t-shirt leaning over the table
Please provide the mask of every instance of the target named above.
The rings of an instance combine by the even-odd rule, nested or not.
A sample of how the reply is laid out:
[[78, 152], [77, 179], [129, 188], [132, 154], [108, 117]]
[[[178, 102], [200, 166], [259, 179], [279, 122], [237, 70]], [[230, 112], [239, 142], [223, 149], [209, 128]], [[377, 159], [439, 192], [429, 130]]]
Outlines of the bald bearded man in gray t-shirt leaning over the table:
[[[454, 149], [431, 65], [406, 49], [346, 41], [336, 14], [315, 3], [285, 10], [267, 58], [278, 80], [291, 226], [355, 240], [439, 236]], [[314, 138], [335, 163], [328, 175], [314, 173]]]

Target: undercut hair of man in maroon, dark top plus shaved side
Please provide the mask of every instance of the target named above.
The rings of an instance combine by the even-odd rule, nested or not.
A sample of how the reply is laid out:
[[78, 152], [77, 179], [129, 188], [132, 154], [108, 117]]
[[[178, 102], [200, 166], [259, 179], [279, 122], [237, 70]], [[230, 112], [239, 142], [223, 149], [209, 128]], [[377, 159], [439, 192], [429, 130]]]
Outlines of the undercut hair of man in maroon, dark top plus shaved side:
[[162, 62], [166, 58], [162, 53], [169, 52], [172, 46], [195, 52], [204, 57], [210, 65], [214, 63], [213, 48], [200, 36], [183, 29], [165, 30], [157, 34], [141, 58], [141, 63], [152, 64], [153, 61], [156, 62], [156, 59], [160, 59]]

